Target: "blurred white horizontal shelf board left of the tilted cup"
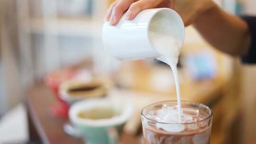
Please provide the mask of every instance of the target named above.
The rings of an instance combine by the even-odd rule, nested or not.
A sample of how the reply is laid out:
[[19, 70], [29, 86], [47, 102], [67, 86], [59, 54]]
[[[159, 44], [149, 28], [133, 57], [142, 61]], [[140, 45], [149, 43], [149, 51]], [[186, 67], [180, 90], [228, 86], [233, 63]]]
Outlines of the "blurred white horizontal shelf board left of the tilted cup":
[[91, 18], [32, 18], [29, 29], [32, 33], [101, 37], [102, 25], [103, 21]]

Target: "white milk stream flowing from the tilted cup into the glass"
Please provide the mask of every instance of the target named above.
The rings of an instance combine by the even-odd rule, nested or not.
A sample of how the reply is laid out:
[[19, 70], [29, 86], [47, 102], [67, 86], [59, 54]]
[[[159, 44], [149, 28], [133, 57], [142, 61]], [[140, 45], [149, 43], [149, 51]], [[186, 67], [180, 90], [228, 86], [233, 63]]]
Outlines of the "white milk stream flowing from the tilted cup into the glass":
[[165, 18], [164, 15], [156, 14], [158, 16], [152, 18], [152, 23], [149, 27], [149, 39], [155, 50], [161, 54], [161, 59], [170, 65], [173, 74], [174, 81], [176, 85], [177, 94], [177, 108], [178, 108], [178, 122], [182, 123], [181, 115], [181, 95], [180, 86], [177, 72], [177, 63], [179, 59], [179, 54], [182, 48], [182, 41], [174, 37], [172, 29], [168, 27], [171, 25], [171, 20]]

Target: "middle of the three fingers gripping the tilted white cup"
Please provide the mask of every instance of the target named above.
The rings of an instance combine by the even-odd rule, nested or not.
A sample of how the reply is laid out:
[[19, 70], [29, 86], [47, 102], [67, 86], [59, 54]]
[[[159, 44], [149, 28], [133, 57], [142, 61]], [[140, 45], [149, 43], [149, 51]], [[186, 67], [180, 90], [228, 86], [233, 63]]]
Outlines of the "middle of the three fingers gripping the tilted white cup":
[[119, 0], [117, 4], [112, 9], [112, 14], [110, 17], [110, 25], [116, 25], [124, 12], [129, 8], [129, 6], [134, 2], [135, 0]]

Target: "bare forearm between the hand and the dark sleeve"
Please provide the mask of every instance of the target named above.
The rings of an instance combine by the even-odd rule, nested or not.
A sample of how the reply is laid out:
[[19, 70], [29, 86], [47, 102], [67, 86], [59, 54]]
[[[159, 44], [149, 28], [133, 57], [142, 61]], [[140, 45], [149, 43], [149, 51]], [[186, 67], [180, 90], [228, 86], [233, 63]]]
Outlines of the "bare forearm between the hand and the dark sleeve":
[[247, 53], [250, 45], [247, 23], [217, 5], [199, 15], [193, 25], [206, 41], [220, 51], [232, 55]]

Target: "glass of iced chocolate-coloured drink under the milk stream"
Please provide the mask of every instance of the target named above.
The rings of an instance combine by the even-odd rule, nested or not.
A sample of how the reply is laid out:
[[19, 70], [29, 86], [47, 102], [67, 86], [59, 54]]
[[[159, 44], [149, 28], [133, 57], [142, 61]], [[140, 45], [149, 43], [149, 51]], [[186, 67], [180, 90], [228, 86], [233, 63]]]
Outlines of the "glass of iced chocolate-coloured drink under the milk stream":
[[182, 123], [179, 123], [176, 103], [159, 102], [142, 110], [144, 144], [210, 144], [210, 108], [182, 101]]

